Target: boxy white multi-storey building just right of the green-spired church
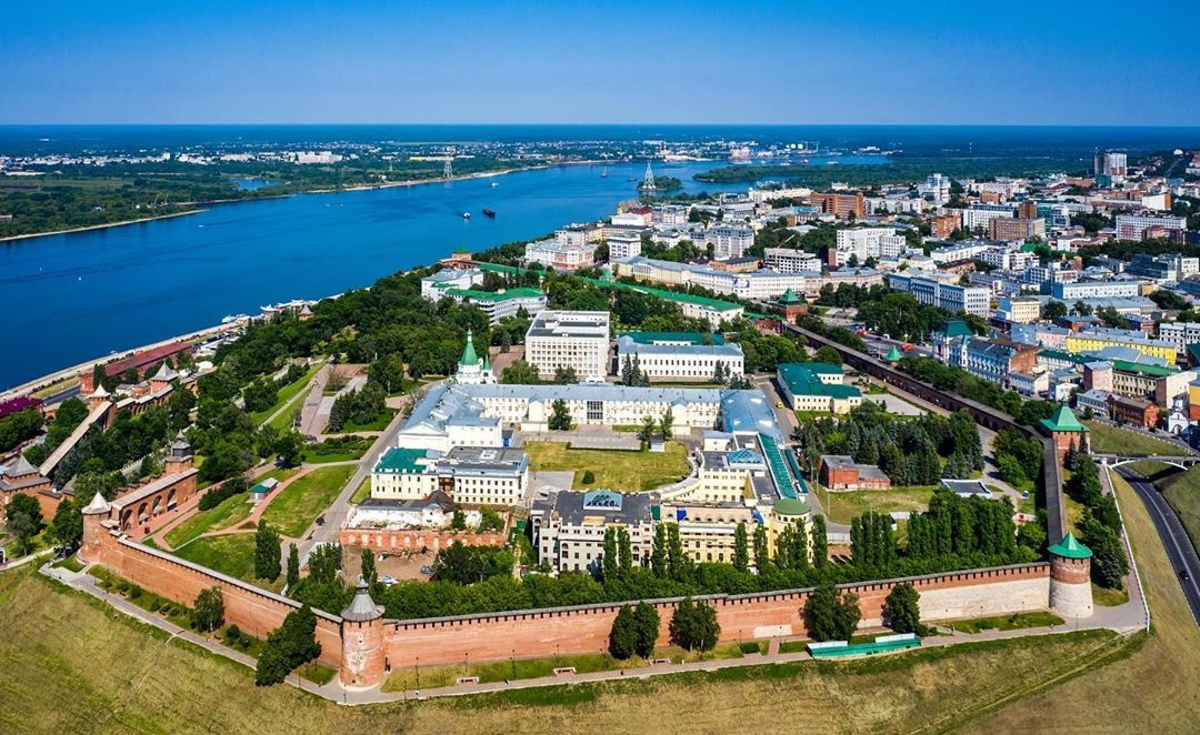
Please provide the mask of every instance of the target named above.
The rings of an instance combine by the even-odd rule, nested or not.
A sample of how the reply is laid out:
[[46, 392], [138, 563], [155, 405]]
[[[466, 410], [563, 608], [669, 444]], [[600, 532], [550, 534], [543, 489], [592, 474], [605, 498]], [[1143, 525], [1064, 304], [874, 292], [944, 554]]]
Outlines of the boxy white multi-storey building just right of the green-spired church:
[[608, 312], [539, 312], [526, 332], [526, 362], [544, 379], [572, 368], [580, 380], [601, 380], [608, 374]]

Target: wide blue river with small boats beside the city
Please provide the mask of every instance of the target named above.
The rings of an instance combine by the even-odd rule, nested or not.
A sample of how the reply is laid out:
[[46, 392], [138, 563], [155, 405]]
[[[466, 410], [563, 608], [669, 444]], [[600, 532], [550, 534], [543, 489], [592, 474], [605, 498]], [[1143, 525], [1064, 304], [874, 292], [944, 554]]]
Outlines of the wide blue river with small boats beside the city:
[[[683, 180], [689, 192], [744, 191], [744, 183], [692, 180], [695, 173], [722, 164], [659, 163], [654, 170]], [[571, 165], [301, 194], [0, 243], [6, 343], [0, 390], [211, 326], [227, 314], [254, 314], [263, 305], [366, 287], [458, 246], [484, 249], [599, 219], [636, 195], [644, 169], [644, 163]], [[484, 207], [494, 210], [496, 218], [485, 217]], [[469, 222], [463, 212], [470, 212]]]

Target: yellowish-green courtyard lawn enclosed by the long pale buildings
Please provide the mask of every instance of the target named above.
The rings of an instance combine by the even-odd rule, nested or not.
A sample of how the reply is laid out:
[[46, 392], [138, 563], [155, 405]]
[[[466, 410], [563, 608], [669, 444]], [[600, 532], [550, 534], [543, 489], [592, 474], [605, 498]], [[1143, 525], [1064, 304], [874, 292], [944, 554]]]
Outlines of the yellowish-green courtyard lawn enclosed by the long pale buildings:
[[[671, 484], [688, 476], [688, 450], [668, 441], [661, 453], [620, 450], [569, 450], [559, 441], [528, 441], [522, 448], [529, 454], [533, 470], [575, 470], [575, 489], [607, 488], [646, 492]], [[583, 484], [583, 474], [592, 470], [595, 482]]]

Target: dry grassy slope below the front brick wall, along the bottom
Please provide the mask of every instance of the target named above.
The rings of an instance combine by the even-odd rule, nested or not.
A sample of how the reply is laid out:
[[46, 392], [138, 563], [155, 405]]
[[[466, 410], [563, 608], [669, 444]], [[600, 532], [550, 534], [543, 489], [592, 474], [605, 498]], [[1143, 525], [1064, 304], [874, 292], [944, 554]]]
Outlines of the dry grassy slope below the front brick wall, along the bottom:
[[[757, 733], [908, 731], [1052, 675], [1102, 637], [1051, 637], [949, 655], [760, 667], [343, 709], [259, 689], [203, 653], [31, 571], [0, 576], [0, 729], [11, 733]], [[836, 676], [830, 674], [836, 673]], [[770, 706], [748, 706], [769, 701]], [[697, 706], [703, 703], [703, 706]], [[1124, 722], [1138, 716], [1127, 711]]]

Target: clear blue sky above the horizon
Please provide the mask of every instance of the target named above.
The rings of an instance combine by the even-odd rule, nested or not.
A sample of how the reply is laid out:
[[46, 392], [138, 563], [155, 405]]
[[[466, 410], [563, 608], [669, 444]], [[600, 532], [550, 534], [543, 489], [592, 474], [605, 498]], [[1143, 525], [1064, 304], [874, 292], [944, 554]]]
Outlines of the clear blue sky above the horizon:
[[4, 7], [0, 123], [1200, 125], [1195, 0]]

